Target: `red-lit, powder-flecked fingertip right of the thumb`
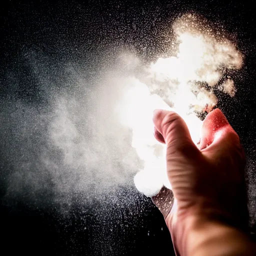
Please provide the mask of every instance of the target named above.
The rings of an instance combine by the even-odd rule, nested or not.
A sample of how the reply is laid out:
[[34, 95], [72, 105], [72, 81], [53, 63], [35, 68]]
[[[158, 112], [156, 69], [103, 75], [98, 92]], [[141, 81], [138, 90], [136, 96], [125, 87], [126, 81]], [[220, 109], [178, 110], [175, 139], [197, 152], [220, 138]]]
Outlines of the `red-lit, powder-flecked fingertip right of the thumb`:
[[223, 132], [225, 134], [231, 132], [234, 133], [232, 135], [237, 136], [222, 111], [216, 108], [206, 115], [202, 123], [199, 149], [207, 147], [213, 140], [220, 138]]

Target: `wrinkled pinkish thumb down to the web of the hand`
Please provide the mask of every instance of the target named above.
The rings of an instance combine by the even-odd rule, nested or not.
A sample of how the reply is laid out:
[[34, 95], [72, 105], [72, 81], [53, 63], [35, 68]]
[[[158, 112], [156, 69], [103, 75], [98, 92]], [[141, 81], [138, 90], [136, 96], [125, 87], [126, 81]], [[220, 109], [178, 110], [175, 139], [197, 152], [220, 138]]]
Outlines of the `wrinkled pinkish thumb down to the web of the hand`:
[[185, 121], [176, 112], [155, 109], [153, 111], [154, 136], [160, 142], [173, 146], [174, 151], [197, 147], [193, 143]]

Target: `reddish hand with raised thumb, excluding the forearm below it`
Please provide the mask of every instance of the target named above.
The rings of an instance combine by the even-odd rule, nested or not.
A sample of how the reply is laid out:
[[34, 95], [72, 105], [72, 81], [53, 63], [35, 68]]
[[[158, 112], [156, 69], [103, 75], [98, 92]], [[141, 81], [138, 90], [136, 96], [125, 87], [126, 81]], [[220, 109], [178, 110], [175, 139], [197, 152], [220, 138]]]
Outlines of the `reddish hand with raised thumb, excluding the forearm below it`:
[[156, 139], [166, 143], [174, 204], [165, 221], [175, 249], [183, 250], [191, 219], [223, 222], [245, 230], [245, 157], [239, 137], [224, 114], [214, 109], [206, 116], [197, 146], [177, 113], [157, 109], [153, 122]]

